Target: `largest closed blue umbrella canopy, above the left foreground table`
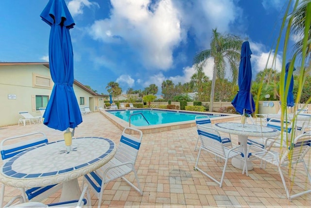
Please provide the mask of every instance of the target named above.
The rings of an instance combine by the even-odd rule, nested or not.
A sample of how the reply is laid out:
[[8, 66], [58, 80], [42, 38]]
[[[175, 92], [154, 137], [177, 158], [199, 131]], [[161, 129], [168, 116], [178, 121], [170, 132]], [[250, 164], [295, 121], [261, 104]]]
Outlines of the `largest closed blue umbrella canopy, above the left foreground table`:
[[73, 91], [73, 52], [69, 29], [75, 25], [64, 0], [49, 0], [40, 17], [51, 26], [49, 62], [54, 82], [44, 124], [64, 131], [82, 122]]

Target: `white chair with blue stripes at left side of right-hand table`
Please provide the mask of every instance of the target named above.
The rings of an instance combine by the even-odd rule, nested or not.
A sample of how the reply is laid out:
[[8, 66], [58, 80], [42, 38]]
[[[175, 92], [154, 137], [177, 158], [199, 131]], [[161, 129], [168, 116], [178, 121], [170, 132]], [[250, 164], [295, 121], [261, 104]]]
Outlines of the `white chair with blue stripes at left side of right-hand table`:
[[[201, 173], [203, 173], [204, 175], [206, 175], [207, 177], [215, 181], [217, 184], [219, 184], [219, 187], [221, 188], [223, 185], [224, 177], [225, 177], [225, 169], [226, 169], [229, 159], [236, 157], [236, 156], [242, 156], [245, 159], [244, 164], [246, 165], [246, 157], [244, 157], [243, 153], [236, 150], [237, 148], [240, 148], [243, 145], [235, 146], [229, 149], [228, 147], [224, 146], [222, 139], [220, 137], [220, 134], [216, 129], [213, 129], [211, 127], [207, 127], [201, 124], [197, 124], [197, 129], [198, 129], [199, 138], [201, 141], [201, 146], [199, 149], [199, 154], [196, 159], [194, 169], [200, 171]], [[216, 180], [216, 178], [212, 177], [207, 172], [203, 171], [202, 169], [198, 167], [198, 162], [199, 162], [199, 158], [200, 158], [202, 150], [207, 151], [208, 153], [211, 153], [225, 160], [225, 165], [224, 165], [224, 169], [223, 169], [223, 173], [222, 173], [220, 181]], [[208, 169], [206, 165], [204, 166], [205, 166], [204, 169]], [[247, 170], [247, 167], [246, 167], [246, 170]], [[211, 172], [214, 172], [214, 170], [211, 170]]]

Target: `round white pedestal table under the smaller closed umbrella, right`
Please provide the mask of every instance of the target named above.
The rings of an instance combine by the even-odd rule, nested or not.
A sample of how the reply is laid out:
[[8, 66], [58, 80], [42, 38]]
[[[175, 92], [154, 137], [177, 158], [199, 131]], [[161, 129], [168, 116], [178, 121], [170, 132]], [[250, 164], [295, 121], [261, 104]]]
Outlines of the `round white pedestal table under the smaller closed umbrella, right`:
[[[280, 134], [280, 132], [274, 128], [254, 125], [254, 124], [244, 124], [244, 127], [241, 123], [233, 123], [233, 122], [222, 122], [215, 123], [214, 128], [217, 131], [235, 134], [238, 135], [239, 144], [242, 144], [243, 147], [239, 151], [243, 152], [244, 155], [247, 152], [247, 139], [249, 136], [251, 137], [276, 137]], [[244, 167], [244, 159], [234, 157], [231, 159], [231, 164], [238, 169], [243, 170]], [[247, 162], [247, 170], [253, 170], [252, 161]]]

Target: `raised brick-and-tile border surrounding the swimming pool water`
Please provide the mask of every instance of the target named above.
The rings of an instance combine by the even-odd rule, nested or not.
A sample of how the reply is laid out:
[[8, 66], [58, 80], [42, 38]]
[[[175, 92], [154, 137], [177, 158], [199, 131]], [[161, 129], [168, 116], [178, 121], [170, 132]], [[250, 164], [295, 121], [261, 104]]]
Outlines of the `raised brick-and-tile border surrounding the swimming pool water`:
[[[162, 110], [162, 111], [168, 111], [168, 112], [173, 112], [173, 113], [186, 112], [186, 113], [190, 113], [193, 115], [201, 114], [201, 115], [208, 115], [208, 116], [216, 116], [210, 119], [211, 123], [241, 120], [241, 115], [237, 115], [237, 114], [225, 114], [225, 113], [220, 114], [220, 113], [215, 113], [215, 112], [213, 113], [202, 112], [201, 113], [201, 112], [193, 112], [193, 111], [185, 111], [185, 110], [169, 110], [169, 109], [158, 109], [158, 108], [100, 110], [100, 113], [121, 130], [123, 130], [125, 127], [132, 126], [132, 127], [135, 127], [141, 130], [143, 134], [171, 131], [171, 130], [190, 128], [190, 127], [196, 126], [194, 119], [190, 121], [178, 121], [178, 122], [162, 123], [162, 124], [155, 124], [155, 125], [136, 126], [136, 125], [133, 125], [132, 123], [130, 124], [128, 121], [124, 121], [120, 119], [119, 117], [116, 117], [115, 115], [111, 114], [111, 112], [113, 111], [133, 111], [133, 113], [136, 113], [138, 112], [138, 110]], [[131, 122], [132, 122], [132, 118], [131, 118]]]

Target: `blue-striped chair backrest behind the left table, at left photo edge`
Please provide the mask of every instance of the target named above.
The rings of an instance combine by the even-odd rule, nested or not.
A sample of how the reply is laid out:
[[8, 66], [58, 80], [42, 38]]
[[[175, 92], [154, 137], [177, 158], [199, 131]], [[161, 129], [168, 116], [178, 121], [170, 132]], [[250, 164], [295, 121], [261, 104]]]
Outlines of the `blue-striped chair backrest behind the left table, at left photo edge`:
[[8, 159], [20, 152], [45, 145], [48, 142], [47, 136], [42, 132], [35, 132], [3, 139], [0, 143], [1, 158], [2, 160]]

